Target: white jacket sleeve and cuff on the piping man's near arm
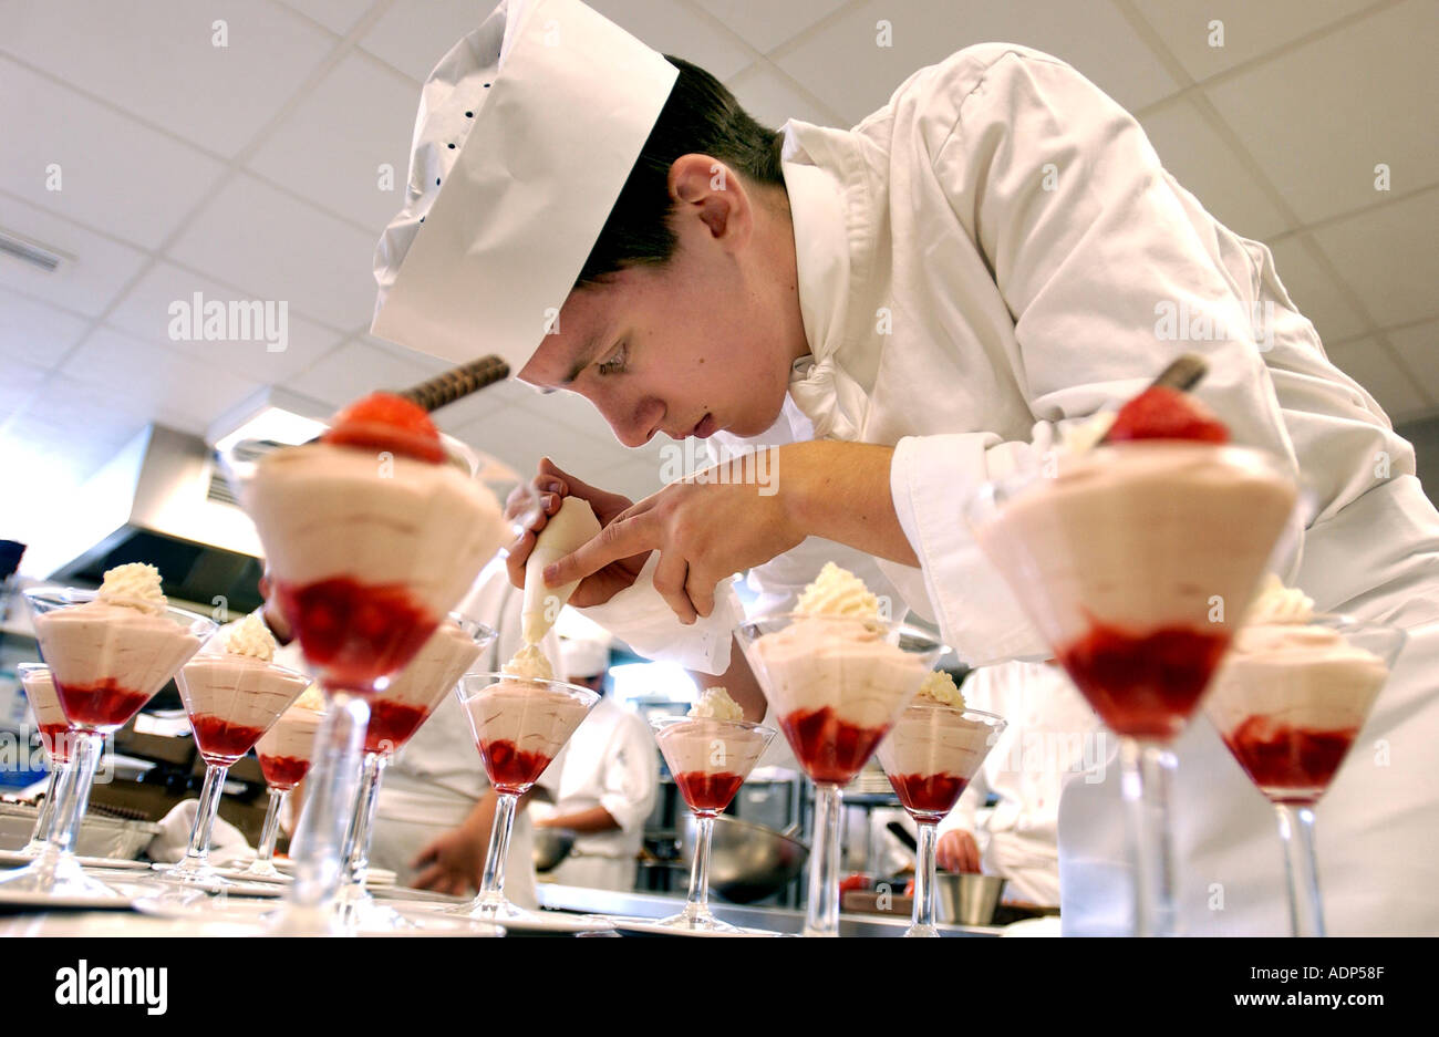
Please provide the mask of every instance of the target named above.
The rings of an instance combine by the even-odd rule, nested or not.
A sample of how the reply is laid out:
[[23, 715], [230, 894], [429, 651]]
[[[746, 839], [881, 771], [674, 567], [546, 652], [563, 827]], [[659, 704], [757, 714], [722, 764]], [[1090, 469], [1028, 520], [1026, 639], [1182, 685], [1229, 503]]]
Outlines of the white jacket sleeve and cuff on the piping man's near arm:
[[[973, 50], [915, 88], [928, 170], [914, 175], [932, 177], [925, 187], [948, 200], [955, 247], [980, 253], [1013, 318], [1007, 361], [1036, 419], [1033, 440], [902, 439], [891, 490], [945, 639], [979, 664], [1050, 653], [980, 555], [964, 505], [986, 479], [1035, 465], [1063, 423], [1134, 396], [1171, 358], [1197, 352], [1210, 364], [1197, 396], [1235, 442], [1295, 473], [1298, 463], [1252, 319], [1259, 256], [1250, 246], [1263, 246], [1191, 219], [1140, 124], [1072, 68], [989, 50], [977, 72]], [[1196, 326], [1181, 341], [1184, 314], [1209, 315], [1212, 331], [1222, 319], [1229, 338], [1194, 338]]]

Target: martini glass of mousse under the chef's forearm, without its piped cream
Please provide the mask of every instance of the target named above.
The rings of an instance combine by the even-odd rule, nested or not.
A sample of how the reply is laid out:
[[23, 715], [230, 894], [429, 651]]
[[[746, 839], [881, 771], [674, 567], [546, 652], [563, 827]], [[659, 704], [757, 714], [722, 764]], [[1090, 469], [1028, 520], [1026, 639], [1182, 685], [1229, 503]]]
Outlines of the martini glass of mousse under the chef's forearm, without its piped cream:
[[799, 613], [735, 630], [780, 729], [814, 782], [806, 936], [839, 935], [839, 824], [848, 785], [944, 646], [918, 627]]

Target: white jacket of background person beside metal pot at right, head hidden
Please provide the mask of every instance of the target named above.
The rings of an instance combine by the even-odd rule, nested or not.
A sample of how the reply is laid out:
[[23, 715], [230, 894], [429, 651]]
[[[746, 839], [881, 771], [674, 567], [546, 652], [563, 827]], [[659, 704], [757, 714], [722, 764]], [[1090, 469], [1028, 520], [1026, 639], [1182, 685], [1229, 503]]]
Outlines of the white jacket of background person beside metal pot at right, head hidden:
[[[1102, 781], [1118, 739], [1056, 666], [981, 666], [963, 690], [968, 708], [997, 713], [1007, 726], [940, 833], [976, 837], [981, 870], [1007, 879], [1006, 900], [1058, 905], [1059, 795], [1069, 781]], [[986, 807], [990, 794], [997, 803]]]

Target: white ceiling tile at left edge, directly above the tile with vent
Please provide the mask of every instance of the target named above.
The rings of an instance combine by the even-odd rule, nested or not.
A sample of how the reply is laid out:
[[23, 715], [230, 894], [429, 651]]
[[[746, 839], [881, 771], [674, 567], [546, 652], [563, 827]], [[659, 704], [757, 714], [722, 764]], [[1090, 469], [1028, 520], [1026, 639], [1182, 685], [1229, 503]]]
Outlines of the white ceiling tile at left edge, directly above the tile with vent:
[[170, 236], [223, 170], [3, 58], [0, 96], [26, 99], [6, 111], [6, 137], [24, 147], [0, 157], [0, 188], [147, 249]]

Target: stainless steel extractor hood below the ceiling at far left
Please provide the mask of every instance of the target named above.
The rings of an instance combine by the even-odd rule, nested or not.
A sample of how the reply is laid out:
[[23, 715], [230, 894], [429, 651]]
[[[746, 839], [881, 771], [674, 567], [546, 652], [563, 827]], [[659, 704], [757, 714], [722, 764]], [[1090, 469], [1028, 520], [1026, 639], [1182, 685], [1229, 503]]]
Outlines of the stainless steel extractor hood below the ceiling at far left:
[[50, 559], [55, 581], [99, 585], [108, 568], [150, 562], [167, 597], [203, 611], [260, 604], [259, 536], [199, 436], [147, 426], [81, 486], [50, 534], [32, 551]]

